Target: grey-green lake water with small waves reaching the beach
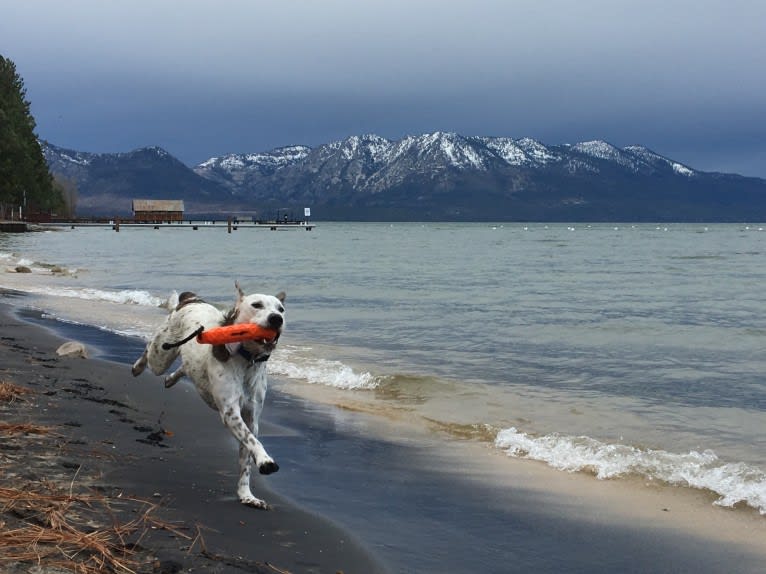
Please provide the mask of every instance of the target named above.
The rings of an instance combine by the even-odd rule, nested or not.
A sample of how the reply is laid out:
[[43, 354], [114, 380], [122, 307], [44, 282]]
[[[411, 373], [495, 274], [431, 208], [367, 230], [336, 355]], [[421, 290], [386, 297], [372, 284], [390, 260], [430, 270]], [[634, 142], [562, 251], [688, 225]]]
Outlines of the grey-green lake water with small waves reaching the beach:
[[0, 286], [60, 320], [142, 338], [174, 290], [222, 307], [235, 280], [285, 290], [270, 369], [288, 391], [766, 514], [764, 227], [0, 234], [0, 265], [33, 271], [4, 273]]

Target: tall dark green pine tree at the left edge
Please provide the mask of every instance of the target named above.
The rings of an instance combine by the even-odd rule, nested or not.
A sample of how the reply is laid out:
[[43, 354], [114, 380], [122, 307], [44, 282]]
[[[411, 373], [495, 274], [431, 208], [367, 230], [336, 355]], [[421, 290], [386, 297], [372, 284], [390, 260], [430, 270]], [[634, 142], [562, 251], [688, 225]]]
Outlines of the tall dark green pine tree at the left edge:
[[16, 65], [0, 55], [0, 207], [50, 210], [61, 206], [35, 135], [35, 120]]

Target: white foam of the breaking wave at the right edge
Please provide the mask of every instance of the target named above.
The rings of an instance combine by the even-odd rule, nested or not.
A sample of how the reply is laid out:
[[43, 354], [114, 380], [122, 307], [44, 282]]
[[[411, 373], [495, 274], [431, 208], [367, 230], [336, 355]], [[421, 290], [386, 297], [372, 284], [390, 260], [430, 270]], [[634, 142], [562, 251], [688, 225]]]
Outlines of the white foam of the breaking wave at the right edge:
[[533, 437], [511, 427], [495, 446], [510, 456], [547, 463], [567, 472], [590, 471], [600, 479], [639, 475], [674, 486], [709, 490], [715, 504], [747, 504], [766, 515], [766, 473], [745, 463], [725, 463], [712, 450], [677, 454], [607, 444], [590, 437], [549, 434]]

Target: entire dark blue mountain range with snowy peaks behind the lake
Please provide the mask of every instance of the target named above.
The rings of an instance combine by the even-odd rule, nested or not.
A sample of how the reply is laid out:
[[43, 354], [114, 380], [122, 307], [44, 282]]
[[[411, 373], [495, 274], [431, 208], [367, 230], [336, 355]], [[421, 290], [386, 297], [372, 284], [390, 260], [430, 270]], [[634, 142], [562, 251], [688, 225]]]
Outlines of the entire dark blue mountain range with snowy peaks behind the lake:
[[183, 199], [187, 216], [268, 218], [310, 207], [321, 220], [766, 220], [764, 179], [598, 140], [364, 135], [194, 167], [158, 147], [93, 154], [42, 146], [51, 172], [76, 183], [81, 215], [130, 215], [132, 199]]

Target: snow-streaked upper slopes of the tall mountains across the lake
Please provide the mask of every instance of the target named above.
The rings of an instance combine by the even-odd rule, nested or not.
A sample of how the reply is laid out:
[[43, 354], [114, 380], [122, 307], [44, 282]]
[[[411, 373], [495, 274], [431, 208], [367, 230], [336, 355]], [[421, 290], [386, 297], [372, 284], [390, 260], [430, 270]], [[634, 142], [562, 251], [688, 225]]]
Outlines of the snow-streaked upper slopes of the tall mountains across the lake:
[[530, 138], [467, 137], [448, 132], [397, 141], [376, 135], [353, 136], [313, 149], [299, 146], [211, 158], [194, 170], [232, 188], [257, 186], [264, 177], [286, 170], [329, 176], [357, 191], [379, 193], [416, 174], [435, 179], [449, 171], [486, 173], [507, 168], [599, 174], [615, 166], [644, 175], [673, 172], [692, 177], [696, 173], [641, 146], [620, 149], [604, 141], [546, 146]]

